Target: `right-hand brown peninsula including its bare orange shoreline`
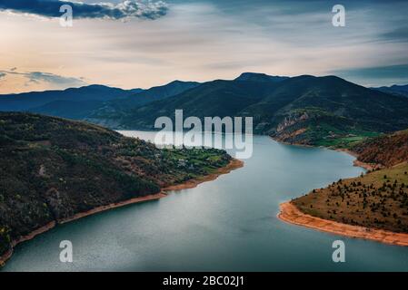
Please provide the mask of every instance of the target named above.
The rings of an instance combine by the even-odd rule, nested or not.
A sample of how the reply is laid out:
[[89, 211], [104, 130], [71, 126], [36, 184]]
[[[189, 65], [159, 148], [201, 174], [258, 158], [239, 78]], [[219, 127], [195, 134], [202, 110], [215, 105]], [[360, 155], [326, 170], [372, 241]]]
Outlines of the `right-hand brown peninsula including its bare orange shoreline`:
[[281, 205], [282, 220], [348, 237], [408, 246], [408, 131], [359, 142], [354, 164], [368, 169]]

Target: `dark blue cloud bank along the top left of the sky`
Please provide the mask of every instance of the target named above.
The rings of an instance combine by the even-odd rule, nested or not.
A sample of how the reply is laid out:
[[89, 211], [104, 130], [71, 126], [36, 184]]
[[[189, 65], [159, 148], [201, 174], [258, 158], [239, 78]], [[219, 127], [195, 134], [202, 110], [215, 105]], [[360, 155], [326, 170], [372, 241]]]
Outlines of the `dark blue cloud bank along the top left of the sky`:
[[163, 1], [125, 0], [117, 5], [112, 3], [85, 4], [57, 0], [0, 0], [0, 10], [15, 13], [36, 14], [45, 17], [60, 17], [60, 7], [71, 5], [74, 18], [147, 18], [156, 19], [167, 13]]

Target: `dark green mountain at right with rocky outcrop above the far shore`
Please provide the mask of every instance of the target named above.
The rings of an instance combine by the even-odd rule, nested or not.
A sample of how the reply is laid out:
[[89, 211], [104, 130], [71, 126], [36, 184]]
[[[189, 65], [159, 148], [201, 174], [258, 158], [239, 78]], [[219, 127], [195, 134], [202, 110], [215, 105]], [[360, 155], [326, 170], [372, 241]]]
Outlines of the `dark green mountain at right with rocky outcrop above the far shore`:
[[335, 76], [292, 78], [282, 82], [269, 100], [277, 97], [294, 99], [272, 117], [270, 132], [285, 142], [339, 147], [348, 138], [408, 127], [405, 98]]

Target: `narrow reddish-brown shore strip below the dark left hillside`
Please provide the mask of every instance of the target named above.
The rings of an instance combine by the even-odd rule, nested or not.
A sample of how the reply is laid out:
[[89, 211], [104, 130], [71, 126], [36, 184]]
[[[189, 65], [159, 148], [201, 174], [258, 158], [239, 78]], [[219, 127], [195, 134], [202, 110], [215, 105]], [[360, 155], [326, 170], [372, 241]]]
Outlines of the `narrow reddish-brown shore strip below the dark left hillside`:
[[34, 237], [36, 237], [36, 236], [38, 236], [40, 234], [45, 233], [46, 231], [50, 230], [51, 228], [56, 227], [57, 224], [65, 224], [67, 222], [70, 222], [70, 221], [73, 221], [73, 220], [76, 220], [76, 219], [79, 219], [79, 218], [85, 218], [87, 216], [91, 216], [91, 215], [94, 215], [96, 213], [103, 212], [105, 210], [109, 210], [109, 209], [112, 209], [112, 208], [121, 208], [121, 207], [131, 205], [131, 204], [134, 204], [134, 203], [139, 203], [139, 202], [145, 202], [145, 201], [157, 200], [157, 199], [160, 199], [160, 198], [164, 198], [164, 197], [167, 196], [168, 191], [178, 191], [178, 190], [182, 190], [182, 189], [193, 189], [193, 188], [195, 188], [196, 186], [198, 186], [201, 183], [217, 179], [220, 175], [227, 174], [227, 173], [231, 172], [234, 169], [240, 169], [243, 166], [244, 166], [243, 161], [233, 159], [224, 168], [217, 169], [212, 174], [209, 174], [207, 176], [204, 176], [204, 177], [198, 178], [198, 179], [187, 180], [182, 184], [166, 187], [166, 188], [162, 189], [161, 192], [159, 192], [157, 194], [153, 194], [153, 195], [149, 195], [149, 196], [145, 196], [145, 197], [141, 197], [141, 198], [131, 198], [131, 199], [124, 200], [124, 201], [121, 201], [121, 202], [112, 203], [110, 205], [93, 208], [93, 209], [90, 209], [88, 211], [75, 214], [71, 218], [65, 218], [65, 219], [60, 219], [60, 220], [57, 220], [57, 221], [52, 221], [52, 222], [48, 223], [47, 225], [45, 225], [43, 227], [39, 227], [39, 228], [35, 229], [30, 234], [14, 240], [12, 242], [12, 248], [9, 251], [7, 251], [3, 256], [0, 256], [0, 266], [4, 266], [5, 262], [13, 255], [13, 251], [14, 251], [15, 246], [17, 246], [18, 244], [23, 243], [23, 242], [25, 242], [27, 240], [30, 240], [30, 239], [32, 239], [32, 238], [34, 238]]

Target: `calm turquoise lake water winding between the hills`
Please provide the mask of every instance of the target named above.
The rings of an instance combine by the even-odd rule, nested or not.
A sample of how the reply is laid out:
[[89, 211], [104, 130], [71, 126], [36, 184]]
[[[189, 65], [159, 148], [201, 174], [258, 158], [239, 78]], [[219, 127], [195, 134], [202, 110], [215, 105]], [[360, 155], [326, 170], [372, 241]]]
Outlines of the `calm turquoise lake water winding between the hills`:
[[[152, 132], [124, 132], [152, 139]], [[343, 152], [254, 136], [243, 169], [157, 201], [116, 208], [56, 227], [19, 245], [5, 271], [377, 271], [408, 270], [408, 247], [285, 224], [279, 203], [359, 175]], [[345, 263], [332, 243], [345, 243]], [[74, 263], [61, 263], [70, 240]]]

